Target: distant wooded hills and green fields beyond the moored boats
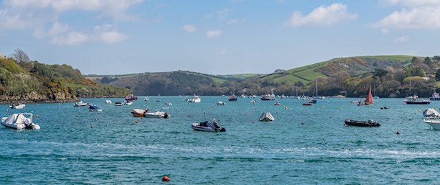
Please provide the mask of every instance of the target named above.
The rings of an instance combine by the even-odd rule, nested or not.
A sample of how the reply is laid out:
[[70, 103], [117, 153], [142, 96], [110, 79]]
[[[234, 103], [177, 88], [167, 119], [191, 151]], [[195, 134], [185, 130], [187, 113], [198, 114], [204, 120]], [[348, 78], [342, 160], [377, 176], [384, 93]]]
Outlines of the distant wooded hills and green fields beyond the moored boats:
[[440, 56], [353, 56], [333, 58], [272, 74], [218, 76], [177, 71], [94, 77], [100, 83], [126, 87], [137, 95], [218, 96], [221, 94], [343, 95], [365, 96], [369, 87], [376, 96], [404, 97], [411, 92], [430, 96], [439, 91]]

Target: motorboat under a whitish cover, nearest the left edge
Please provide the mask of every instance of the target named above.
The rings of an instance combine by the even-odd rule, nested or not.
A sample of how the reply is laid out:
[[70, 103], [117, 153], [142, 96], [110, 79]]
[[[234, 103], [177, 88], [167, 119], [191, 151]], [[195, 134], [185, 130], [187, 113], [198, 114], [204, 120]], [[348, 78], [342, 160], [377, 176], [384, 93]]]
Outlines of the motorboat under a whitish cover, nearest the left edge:
[[1, 118], [1, 124], [12, 129], [40, 129], [39, 124], [32, 122], [32, 113], [14, 113], [9, 117]]

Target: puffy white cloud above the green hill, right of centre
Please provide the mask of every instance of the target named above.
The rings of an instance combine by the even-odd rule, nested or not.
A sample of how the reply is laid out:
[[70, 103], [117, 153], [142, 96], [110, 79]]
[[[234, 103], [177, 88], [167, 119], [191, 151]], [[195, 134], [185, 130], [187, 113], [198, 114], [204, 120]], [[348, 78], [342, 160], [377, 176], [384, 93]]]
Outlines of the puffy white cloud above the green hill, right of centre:
[[357, 19], [357, 14], [347, 11], [347, 6], [342, 3], [334, 3], [330, 6], [320, 6], [307, 16], [301, 12], [294, 12], [292, 17], [285, 22], [286, 26], [300, 27], [305, 25], [332, 25], [343, 21]]

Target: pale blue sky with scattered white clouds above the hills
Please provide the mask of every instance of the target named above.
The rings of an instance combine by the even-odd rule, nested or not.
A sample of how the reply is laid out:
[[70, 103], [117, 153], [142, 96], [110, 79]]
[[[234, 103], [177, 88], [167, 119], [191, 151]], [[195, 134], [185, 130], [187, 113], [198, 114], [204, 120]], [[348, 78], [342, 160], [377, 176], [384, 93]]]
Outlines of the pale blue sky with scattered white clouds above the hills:
[[3, 0], [0, 54], [83, 74], [270, 74], [440, 54], [440, 0]]

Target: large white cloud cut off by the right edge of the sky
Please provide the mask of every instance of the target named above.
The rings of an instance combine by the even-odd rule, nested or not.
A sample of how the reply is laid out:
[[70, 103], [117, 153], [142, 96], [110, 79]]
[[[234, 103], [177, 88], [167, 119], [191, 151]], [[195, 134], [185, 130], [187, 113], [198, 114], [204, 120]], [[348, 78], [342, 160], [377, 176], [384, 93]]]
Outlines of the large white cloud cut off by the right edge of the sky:
[[419, 29], [419, 28], [440, 28], [439, 7], [419, 7], [411, 10], [401, 10], [393, 12], [384, 17], [381, 21], [373, 23], [374, 28], [388, 30], [397, 29]]

